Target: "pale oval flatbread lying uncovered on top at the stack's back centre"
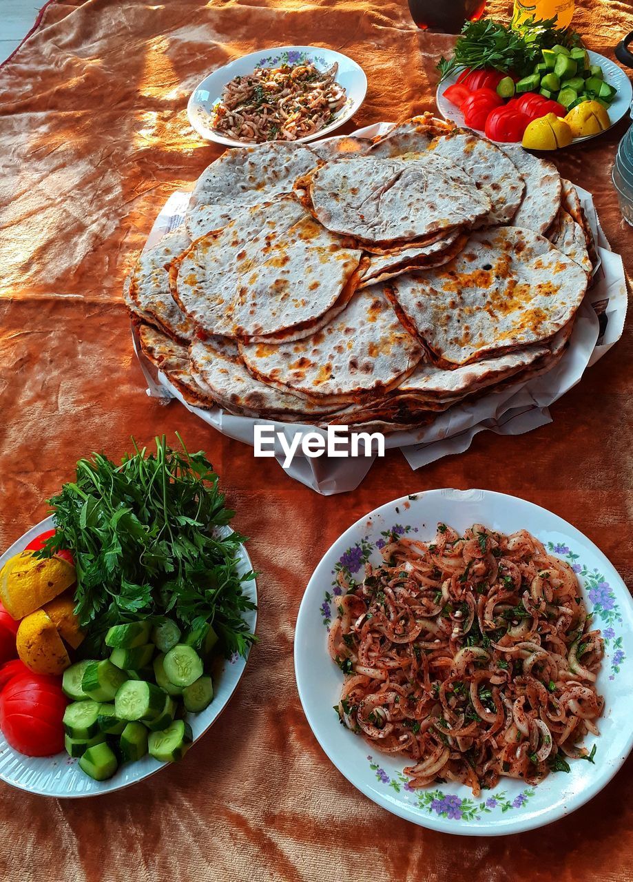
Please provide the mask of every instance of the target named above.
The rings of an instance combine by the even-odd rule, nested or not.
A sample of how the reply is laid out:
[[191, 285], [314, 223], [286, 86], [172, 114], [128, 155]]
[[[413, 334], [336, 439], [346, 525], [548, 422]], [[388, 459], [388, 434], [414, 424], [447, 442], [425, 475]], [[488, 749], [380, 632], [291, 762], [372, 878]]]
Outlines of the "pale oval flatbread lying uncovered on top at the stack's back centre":
[[430, 152], [328, 162], [296, 187], [317, 221], [361, 243], [402, 244], [470, 228], [492, 207], [465, 171]]

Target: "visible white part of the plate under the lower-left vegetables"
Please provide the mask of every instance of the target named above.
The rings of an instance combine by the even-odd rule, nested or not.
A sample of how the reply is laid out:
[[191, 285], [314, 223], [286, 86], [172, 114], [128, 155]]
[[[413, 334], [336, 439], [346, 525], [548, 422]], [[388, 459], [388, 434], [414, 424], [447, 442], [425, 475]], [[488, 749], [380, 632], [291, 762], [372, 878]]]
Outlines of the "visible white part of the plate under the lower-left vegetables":
[[[26, 548], [29, 542], [40, 535], [44, 530], [50, 530], [55, 525], [52, 518], [42, 520], [41, 523], [31, 527], [18, 542], [13, 542], [11, 548], [0, 557], [0, 569], [4, 563], [14, 554]], [[230, 527], [223, 527], [224, 535], [231, 533]], [[238, 549], [238, 573], [245, 575], [252, 570], [249, 555], [243, 545]], [[244, 593], [250, 600], [257, 603], [257, 585], [255, 580], [243, 583]], [[257, 624], [257, 609], [250, 609], [244, 614], [246, 623], [251, 632], [255, 632]], [[218, 719], [228, 701], [240, 682], [246, 659], [241, 655], [234, 656], [230, 660], [222, 659], [216, 669], [213, 670], [214, 697], [212, 703], [202, 714], [189, 714], [188, 721], [193, 731], [194, 745], [207, 729]], [[182, 762], [190, 762], [187, 756]], [[136, 763], [125, 763], [120, 766], [114, 777], [109, 781], [93, 781], [84, 774], [78, 766], [77, 759], [71, 759], [66, 753], [57, 753], [54, 757], [25, 757], [18, 751], [14, 751], [6, 743], [4, 735], [0, 733], [0, 781], [6, 781], [12, 787], [28, 790], [29, 793], [37, 793], [41, 796], [98, 796], [101, 793], [112, 793], [114, 790], [122, 790], [149, 778], [150, 775], [160, 772], [160, 769], [169, 763], [160, 763], [149, 755], [139, 759]]]

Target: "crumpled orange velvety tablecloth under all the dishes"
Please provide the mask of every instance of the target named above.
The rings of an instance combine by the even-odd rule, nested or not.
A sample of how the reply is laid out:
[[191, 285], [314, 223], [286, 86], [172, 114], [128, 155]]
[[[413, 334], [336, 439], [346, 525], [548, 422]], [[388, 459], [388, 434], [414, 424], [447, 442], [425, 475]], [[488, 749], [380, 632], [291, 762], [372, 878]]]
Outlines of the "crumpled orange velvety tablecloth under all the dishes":
[[[509, 3], [489, 4], [503, 13]], [[629, 3], [585, 0], [575, 24], [612, 55]], [[363, 512], [406, 492], [479, 486], [572, 521], [631, 578], [631, 335], [521, 437], [413, 473], [388, 453], [361, 488], [318, 497], [274, 460], [177, 404], [145, 396], [123, 276], [168, 195], [219, 155], [191, 131], [187, 97], [206, 71], [264, 46], [316, 43], [369, 78], [356, 126], [434, 107], [440, 51], [405, 0], [87, 0], [53, 3], [0, 71], [0, 547], [93, 449], [120, 457], [180, 430], [220, 471], [261, 596], [261, 643], [234, 701], [182, 764], [119, 794], [46, 801], [0, 785], [0, 878], [49, 880], [632, 878], [629, 763], [591, 804], [547, 829], [449, 838], [361, 796], [325, 759], [294, 685], [294, 621], [309, 575]], [[349, 126], [351, 130], [353, 126]], [[592, 191], [631, 269], [631, 230], [610, 183], [625, 124], [555, 157]]]

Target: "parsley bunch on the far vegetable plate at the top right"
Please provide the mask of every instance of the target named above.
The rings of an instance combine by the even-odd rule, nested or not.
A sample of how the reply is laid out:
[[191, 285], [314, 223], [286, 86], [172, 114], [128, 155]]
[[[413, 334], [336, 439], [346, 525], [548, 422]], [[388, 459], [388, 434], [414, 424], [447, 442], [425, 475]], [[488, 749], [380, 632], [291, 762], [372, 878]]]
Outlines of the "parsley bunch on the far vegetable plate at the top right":
[[573, 31], [557, 28], [556, 19], [537, 21], [532, 17], [516, 29], [493, 19], [467, 21], [453, 57], [442, 57], [437, 65], [442, 74], [440, 82], [465, 68], [479, 71], [491, 67], [524, 77], [532, 73], [542, 49], [551, 49], [556, 44], [570, 49], [580, 44], [580, 38]]

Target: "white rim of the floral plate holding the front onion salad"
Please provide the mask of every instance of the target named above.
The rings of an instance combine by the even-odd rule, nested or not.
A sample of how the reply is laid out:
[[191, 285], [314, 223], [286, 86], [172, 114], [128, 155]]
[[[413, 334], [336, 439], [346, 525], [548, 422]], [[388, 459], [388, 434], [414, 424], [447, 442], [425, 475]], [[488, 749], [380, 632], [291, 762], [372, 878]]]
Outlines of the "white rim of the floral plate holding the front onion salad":
[[[402, 509], [407, 505], [410, 505], [409, 500], [421, 498], [425, 500], [425, 505], [428, 503], [431, 506], [435, 504], [436, 500], [438, 502], [442, 502], [446, 499], [451, 500], [455, 503], [456, 512], [463, 511], [465, 509], [465, 504], [470, 503], [480, 506], [487, 504], [491, 506], [496, 505], [497, 508], [502, 505], [510, 504], [515, 508], [514, 516], [518, 518], [518, 523], [510, 524], [507, 527], [508, 530], [525, 526], [524, 523], [520, 523], [521, 518], [525, 518], [525, 514], [522, 512], [531, 512], [534, 517], [542, 519], [544, 525], [547, 525], [543, 527], [543, 533], [547, 532], [547, 534], [551, 534], [552, 536], [559, 535], [561, 540], [569, 540], [576, 549], [585, 549], [585, 553], [591, 555], [593, 562], [598, 562], [601, 567], [601, 572], [607, 574], [609, 584], [612, 586], [612, 591], [615, 592], [617, 601], [620, 603], [620, 611], [623, 615], [622, 630], [626, 629], [628, 626], [628, 631], [625, 631], [625, 633], [629, 638], [629, 643], [631, 642], [629, 635], [633, 625], [633, 600], [631, 600], [629, 591], [617, 571], [614, 569], [614, 566], [608, 561], [607, 557], [593, 544], [593, 542], [591, 542], [591, 540], [589, 540], [584, 534], [580, 533], [576, 527], [573, 527], [567, 521], [560, 518], [558, 515], [555, 515], [553, 512], [547, 511], [547, 509], [542, 508], [540, 505], [535, 505], [534, 503], [521, 499], [520, 497], [513, 497], [491, 490], [424, 490], [413, 495], [394, 499], [358, 519], [351, 525], [351, 527], [348, 527], [346, 531], [339, 536], [339, 539], [331, 545], [330, 549], [325, 552], [319, 564], [317, 564], [317, 568], [309, 580], [308, 587], [302, 598], [294, 638], [294, 670], [303, 711], [309, 721], [310, 728], [317, 737], [318, 743], [321, 745], [332, 764], [339, 769], [339, 772], [343, 774], [348, 781], [354, 784], [355, 788], [359, 789], [361, 793], [368, 796], [373, 802], [381, 805], [387, 811], [391, 811], [401, 818], [406, 818], [406, 820], [412, 821], [420, 826], [441, 830], [444, 833], [465, 836], [498, 836], [511, 833], [522, 833], [552, 823], [555, 820], [566, 817], [572, 811], [576, 811], [582, 805], [586, 804], [593, 796], [596, 796], [601, 789], [606, 787], [609, 781], [612, 780], [633, 748], [633, 728], [631, 728], [630, 723], [625, 722], [624, 729], [628, 728], [628, 735], [626, 735], [625, 731], [623, 732], [622, 737], [626, 736], [626, 740], [623, 744], [619, 745], [620, 750], [619, 752], [614, 752], [613, 757], [611, 757], [607, 751], [610, 747], [612, 751], [614, 751], [614, 747], [605, 742], [604, 735], [596, 740], [601, 756], [599, 763], [595, 766], [590, 766], [592, 770], [595, 770], [595, 774], [592, 774], [590, 780], [586, 781], [586, 783], [583, 781], [583, 786], [579, 788], [577, 787], [569, 798], [566, 796], [559, 796], [558, 789], [562, 790], [563, 795], [565, 794], [566, 781], [562, 781], [562, 779], [570, 779], [570, 775], [550, 774], [546, 781], [538, 786], [537, 790], [541, 789], [541, 793], [543, 792], [542, 789], [544, 786], [547, 787], [547, 782], [549, 782], [550, 788], [552, 786], [556, 788], [555, 794], [558, 804], [555, 805], [553, 809], [545, 807], [536, 811], [532, 815], [517, 813], [515, 816], [512, 816], [512, 812], [510, 812], [509, 815], [501, 815], [501, 818], [503, 818], [502, 823], [497, 823], [496, 819], [490, 818], [488, 823], [484, 820], [483, 822], [478, 821], [478, 823], [456, 824], [454, 821], [447, 820], [443, 817], [435, 817], [432, 814], [422, 814], [421, 809], [414, 808], [413, 806], [409, 807], [401, 802], [398, 803], [398, 801], [391, 796], [390, 791], [386, 787], [381, 791], [373, 784], [370, 780], [369, 773], [366, 770], [362, 770], [361, 772], [357, 772], [355, 769], [354, 771], [351, 770], [349, 766], [354, 766], [355, 757], [353, 760], [350, 760], [346, 766], [344, 761], [344, 753], [346, 751], [344, 750], [344, 745], [340, 741], [339, 732], [343, 732], [344, 735], [349, 736], [352, 739], [357, 739], [357, 742], [354, 741], [354, 744], [360, 744], [361, 751], [369, 749], [369, 745], [359, 736], [353, 736], [351, 733], [347, 733], [345, 729], [339, 729], [336, 715], [331, 710], [331, 705], [336, 701], [336, 695], [330, 696], [328, 693], [328, 699], [333, 698], [333, 701], [328, 702], [328, 700], [325, 700], [323, 706], [321, 704], [315, 706], [315, 699], [311, 694], [309, 687], [309, 669], [314, 669], [315, 667], [320, 669], [321, 662], [323, 662], [323, 664], [331, 665], [331, 669], [334, 668], [327, 653], [323, 627], [320, 628], [320, 631], [322, 632], [320, 635], [320, 643], [318, 637], [310, 641], [310, 634], [315, 628], [317, 628], [317, 624], [321, 624], [316, 609], [318, 603], [323, 597], [324, 588], [327, 589], [328, 587], [331, 587], [331, 572], [333, 572], [334, 562], [337, 560], [340, 552], [343, 551], [347, 545], [352, 545], [354, 541], [358, 542], [361, 535], [369, 534], [372, 529], [378, 529], [379, 523], [376, 523], [376, 521], [383, 519], [386, 524], [387, 519], [384, 518], [385, 515], [390, 515], [389, 519], [393, 519], [394, 509], [396, 511], [398, 508], [401, 509], [398, 515], [401, 521], [406, 522], [406, 520], [409, 520], [409, 522], [411, 522], [411, 515], [403, 514]], [[507, 518], [507, 516], [504, 516], [504, 518]], [[448, 518], [445, 519], [448, 520]], [[462, 517], [459, 520], [468, 520], [469, 523], [473, 522], [473, 519], [469, 519], [468, 517]], [[486, 521], [485, 519], [481, 519], [481, 522], [485, 523]], [[463, 528], [460, 523], [456, 523], [456, 526]], [[499, 528], [503, 527], [499, 526]], [[434, 531], [435, 519], [432, 520], [432, 525], [428, 528], [429, 534], [434, 533]], [[321, 615], [323, 616], [323, 613], [321, 613]], [[600, 628], [604, 631], [604, 626], [600, 625]], [[315, 658], [314, 655], [311, 655], [309, 660], [304, 658], [302, 647], [307, 642], [309, 642], [310, 648], [317, 652], [317, 658]], [[312, 645], [315, 643], [317, 644], [316, 647]], [[322, 646], [322, 655], [318, 655], [318, 646]], [[629, 647], [629, 654], [625, 655], [625, 658], [627, 659], [631, 654], [630, 649], [631, 647]], [[338, 672], [336, 673], [338, 674]], [[599, 688], [602, 691], [604, 691], [603, 680], [606, 675], [607, 670], [605, 662], [599, 676]], [[627, 679], [626, 676], [625, 679]], [[630, 673], [627, 682], [629, 681]], [[340, 684], [342, 684], [342, 682], [341, 677]], [[618, 709], [621, 714], [624, 714], [622, 696]], [[332, 715], [331, 719], [328, 717], [328, 713]], [[610, 716], [610, 714], [611, 709], [608, 707], [607, 698], [607, 712], [605, 715]], [[605, 717], [603, 716], [603, 720], [604, 719]], [[334, 731], [337, 732], [337, 735], [332, 737], [331, 729], [334, 729]], [[350, 742], [350, 744], [352, 743]], [[355, 754], [358, 749], [353, 748], [353, 750]], [[369, 757], [367, 759], [369, 759]], [[376, 751], [376, 760], [378, 761], [378, 764], [382, 764], [385, 768], [389, 762], [385, 755], [380, 754], [379, 751]], [[405, 761], [399, 763], [400, 767], [404, 765], [406, 765]], [[581, 765], [585, 766], [585, 763], [582, 763]], [[589, 766], [589, 764], [586, 765]], [[574, 767], [572, 766], [571, 774], [573, 773]], [[584, 775], [584, 773], [580, 772], [577, 774], [581, 777]], [[557, 784], [556, 779], [558, 779], [560, 783]], [[387, 778], [387, 780], [389, 780], [389, 778]], [[504, 779], [503, 782], [505, 781], [506, 780]], [[572, 783], [573, 779], [570, 781], [570, 786]], [[500, 784], [499, 787], [501, 786], [502, 785]], [[455, 790], [458, 789], [451, 785], [444, 785], [444, 788], [450, 793], [455, 792]], [[506, 785], [505, 789], [508, 789], [508, 785]], [[470, 796], [469, 789], [461, 788], [458, 790], [464, 796]], [[486, 796], [487, 794], [484, 793], [480, 798], [485, 799]]]

